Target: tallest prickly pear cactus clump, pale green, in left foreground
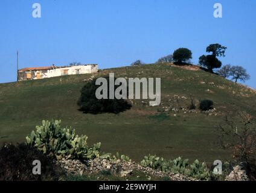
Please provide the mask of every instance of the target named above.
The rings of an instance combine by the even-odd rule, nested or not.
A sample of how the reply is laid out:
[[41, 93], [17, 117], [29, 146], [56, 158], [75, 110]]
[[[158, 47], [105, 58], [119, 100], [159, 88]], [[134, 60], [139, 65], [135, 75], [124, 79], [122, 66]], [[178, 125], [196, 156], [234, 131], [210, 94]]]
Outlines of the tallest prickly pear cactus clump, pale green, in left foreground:
[[72, 159], [88, 160], [100, 156], [100, 143], [89, 147], [88, 137], [78, 136], [71, 127], [61, 128], [61, 121], [42, 121], [26, 137], [27, 144], [36, 147], [44, 154], [54, 154], [57, 158], [68, 156]]

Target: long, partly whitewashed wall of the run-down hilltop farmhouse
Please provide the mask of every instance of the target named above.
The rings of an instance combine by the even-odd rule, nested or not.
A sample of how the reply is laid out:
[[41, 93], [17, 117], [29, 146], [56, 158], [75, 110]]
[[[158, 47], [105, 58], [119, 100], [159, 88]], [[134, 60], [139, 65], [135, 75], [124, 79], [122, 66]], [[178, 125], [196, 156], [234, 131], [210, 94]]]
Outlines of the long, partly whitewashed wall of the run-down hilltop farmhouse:
[[97, 71], [98, 65], [80, 65], [48, 70], [19, 71], [19, 80], [36, 80], [42, 78], [60, 77], [63, 75], [89, 74]]

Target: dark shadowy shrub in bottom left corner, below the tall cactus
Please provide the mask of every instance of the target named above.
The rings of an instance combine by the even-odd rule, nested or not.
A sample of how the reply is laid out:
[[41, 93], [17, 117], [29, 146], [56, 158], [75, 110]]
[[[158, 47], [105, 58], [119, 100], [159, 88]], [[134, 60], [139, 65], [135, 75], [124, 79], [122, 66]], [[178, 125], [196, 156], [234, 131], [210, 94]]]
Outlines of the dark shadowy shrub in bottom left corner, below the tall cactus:
[[[41, 175], [34, 175], [33, 161], [40, 160]], [[59, 180], [64, 174], [53, 157], [26, 144], [5, 144], [0, 150], [0, 181]]]

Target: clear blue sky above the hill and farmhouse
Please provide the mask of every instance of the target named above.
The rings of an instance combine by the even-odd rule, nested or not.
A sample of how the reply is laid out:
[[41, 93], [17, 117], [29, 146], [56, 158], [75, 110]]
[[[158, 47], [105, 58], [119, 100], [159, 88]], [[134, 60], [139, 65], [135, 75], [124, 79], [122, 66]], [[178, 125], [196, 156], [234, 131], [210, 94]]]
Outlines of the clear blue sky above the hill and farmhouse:
[[[39, 2], [42, 18], [32, 17]], [[223, 5], [223, 18], [213, 5]], [[19, 67], [98, 63], [153, 63], [174, 49], [193, 51], [193, 62], [210, 43], [228, 47], [223, 64], [241, 65], [256, 87], [255, 0], [1, 0], [0, 83], [16, 80]]]

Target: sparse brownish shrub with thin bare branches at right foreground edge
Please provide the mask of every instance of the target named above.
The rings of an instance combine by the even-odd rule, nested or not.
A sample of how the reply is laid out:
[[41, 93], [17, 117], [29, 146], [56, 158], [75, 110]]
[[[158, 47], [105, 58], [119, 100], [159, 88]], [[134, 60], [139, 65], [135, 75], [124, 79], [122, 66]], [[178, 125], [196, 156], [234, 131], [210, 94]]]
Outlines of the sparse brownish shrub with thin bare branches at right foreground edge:
[[[253, 106], [252, 106], [253, 109]], [[225, 117], [219, 124], [220, 145], [231, 148], [234, 159], [246, 169], [250, 180], [256, 181], [256, 130], [255, 119], [245, 112]]]

